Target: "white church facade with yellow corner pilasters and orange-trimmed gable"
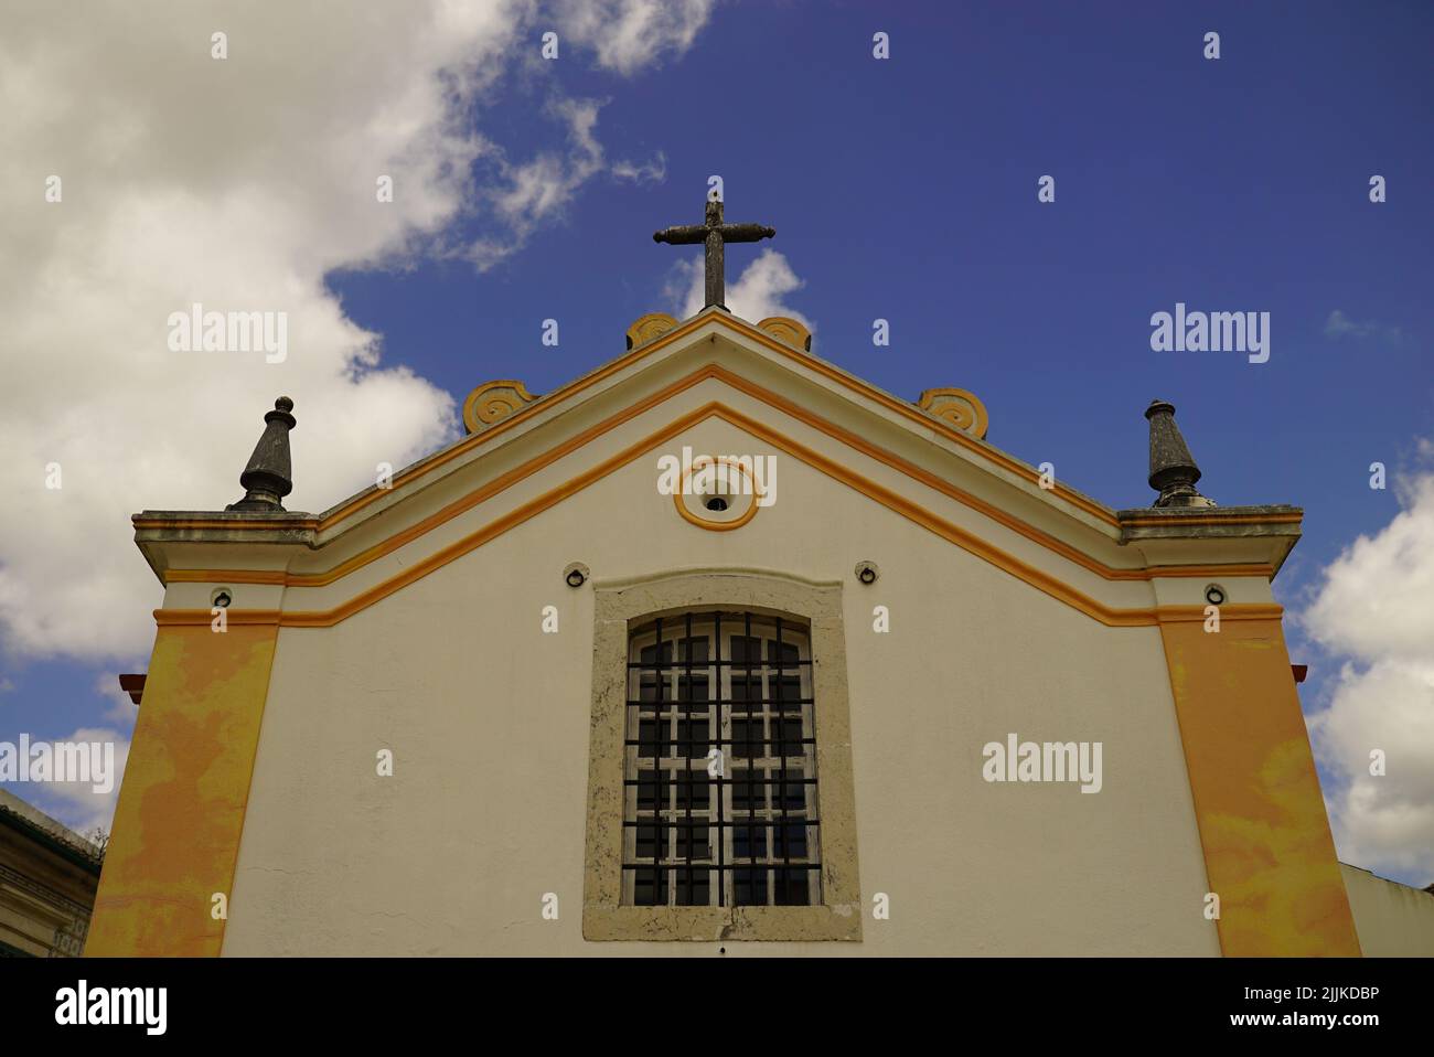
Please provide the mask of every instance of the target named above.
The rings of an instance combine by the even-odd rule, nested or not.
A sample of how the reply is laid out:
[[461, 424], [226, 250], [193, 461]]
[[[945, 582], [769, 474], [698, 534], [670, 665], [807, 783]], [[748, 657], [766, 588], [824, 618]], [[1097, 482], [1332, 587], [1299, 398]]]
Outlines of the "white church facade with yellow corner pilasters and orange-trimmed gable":
[[1169, 404], [1126, 511], [720, 303], [320, 515], [291, 410], [235, 508], [135, 516], [90, 954], [1361, 952], [1301, 512], [1200, 496]]

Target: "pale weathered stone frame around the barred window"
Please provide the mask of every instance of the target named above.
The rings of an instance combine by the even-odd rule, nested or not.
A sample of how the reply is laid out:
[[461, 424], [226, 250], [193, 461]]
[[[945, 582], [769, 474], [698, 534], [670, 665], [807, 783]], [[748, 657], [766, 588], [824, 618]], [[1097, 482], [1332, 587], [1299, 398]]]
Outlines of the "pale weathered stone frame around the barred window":
[[[807, 622], [816, 706], [819, 906], [624, 906], [622, 777], [630, 630], [655, 617], [733, 607]], [[860, 941], [852, 720], [842, 584], [767, 569], [694, 569], [594, 581], [592, 721], [582, 937], [589, 941]]]

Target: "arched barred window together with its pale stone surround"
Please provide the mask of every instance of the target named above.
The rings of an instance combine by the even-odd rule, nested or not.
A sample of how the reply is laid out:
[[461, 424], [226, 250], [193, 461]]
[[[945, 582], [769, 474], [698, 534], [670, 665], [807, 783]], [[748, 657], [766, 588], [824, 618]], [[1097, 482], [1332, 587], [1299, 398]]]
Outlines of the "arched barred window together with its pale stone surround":
[[585, 939], [860, 941], [842, 591], [592, 581]]

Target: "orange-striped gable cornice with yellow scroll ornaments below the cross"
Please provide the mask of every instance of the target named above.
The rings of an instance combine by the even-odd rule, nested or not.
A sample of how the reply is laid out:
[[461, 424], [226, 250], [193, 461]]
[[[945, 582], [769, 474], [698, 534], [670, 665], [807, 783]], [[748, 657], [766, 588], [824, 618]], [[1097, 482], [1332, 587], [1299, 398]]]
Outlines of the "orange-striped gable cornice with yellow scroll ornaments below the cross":
[[[327, 625], [720, 422], [754, 452], [812, 469], [1101, 622], [1149, 622], [1131, 585], [1182, 568], [1202, 575], [1186, 536], [1156, 541], [1169, 556], [1152, 562], [1114, 511], [982, 440], [985, 409], [965, 390], [928, 390], [919, 403], [885, 393], [815, 356], [794, 321], [759, 326], [721, 310], [670, 326], [644, 318], [627, 353], [554, 393], [511, 379], [475, 389], [469, 435], [391, 488], [320, 515], [138, 515], [136, 539], [166, 584], [251, 574], [300, 588], [284, 597], [284, 622]], [[1268, 575], [1288, 549], [1276, 535], [1222, 544], [1220, 555], [1229, 569]], [[1200, 554], [1213, 555], [1209, 542]], [[228, 568], [201, 567], [215, 555]], [[291, 611], [304, 589], [315, 605]]]

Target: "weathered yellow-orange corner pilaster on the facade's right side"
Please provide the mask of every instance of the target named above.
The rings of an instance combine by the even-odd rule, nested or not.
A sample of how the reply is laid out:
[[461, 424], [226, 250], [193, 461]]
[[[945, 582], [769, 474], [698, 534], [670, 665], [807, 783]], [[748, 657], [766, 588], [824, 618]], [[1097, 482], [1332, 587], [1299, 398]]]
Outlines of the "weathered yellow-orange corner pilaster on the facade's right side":
[[1358, 958], [1279, 620], [1162, 621], [1160, 634], [1220, 949]]

